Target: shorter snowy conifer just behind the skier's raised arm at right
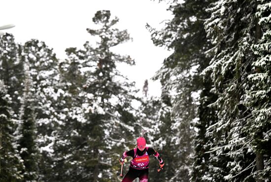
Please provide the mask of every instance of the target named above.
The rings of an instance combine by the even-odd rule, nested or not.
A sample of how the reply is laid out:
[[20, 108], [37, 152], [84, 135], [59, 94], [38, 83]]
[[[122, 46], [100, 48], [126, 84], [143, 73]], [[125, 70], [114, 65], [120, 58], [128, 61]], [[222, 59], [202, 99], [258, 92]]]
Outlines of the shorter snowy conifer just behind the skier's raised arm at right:
[[[176, 172], [179, 163], [179, 154], [176, 153], [178, 145], [175, 145], [177, 138], [172, 137], [171, 133], [177, 133], [178, 128], [171, 121], [171, 106], [165, 104], [160, 98], [150, 97], [139, 109], [143, 126], [148, 127], [148, 133], [145, 134], [147, 143], [156, 151], [165, 161], [165, 168], [157, 173], [158, 162], [154, 157], [150, 157], [149, 180], [150, 181], [178, 181], [179, 173]], [[178, 171], [181, 172], [181, 171]]]

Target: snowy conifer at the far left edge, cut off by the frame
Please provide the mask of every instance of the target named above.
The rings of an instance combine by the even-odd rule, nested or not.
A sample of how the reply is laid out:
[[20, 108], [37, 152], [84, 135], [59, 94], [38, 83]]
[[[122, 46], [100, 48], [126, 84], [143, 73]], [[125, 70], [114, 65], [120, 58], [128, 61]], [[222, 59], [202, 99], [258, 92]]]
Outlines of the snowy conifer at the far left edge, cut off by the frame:
[[0, 181], [14, 182], [22, 179], [23, 163], [17, 149], [14, 131], [19, 118], [23, 79], [21, 45], [16, 44], [11, 34], [0, 36]]

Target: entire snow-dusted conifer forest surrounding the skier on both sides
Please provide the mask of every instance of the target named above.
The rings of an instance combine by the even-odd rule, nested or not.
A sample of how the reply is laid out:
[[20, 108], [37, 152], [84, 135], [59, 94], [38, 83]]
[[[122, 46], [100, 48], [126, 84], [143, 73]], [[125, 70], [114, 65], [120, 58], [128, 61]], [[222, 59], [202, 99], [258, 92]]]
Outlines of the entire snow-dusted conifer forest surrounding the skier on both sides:
[[118, 70], [136, 60], [112, 52], [132, 37], [110, 10], [87, 29], [97, 44], [65, 60], [0, 36], [0, 182], [121, 182], [119, 158], [142, 129], [165, 162], [158, 173], [150, 157], [149, 182], [271, 182], [271, 1], [155, 1], [173, 15], [146, 24], [172, 50], [152, 77], [159, 97], [147, 80], [135, 96]]

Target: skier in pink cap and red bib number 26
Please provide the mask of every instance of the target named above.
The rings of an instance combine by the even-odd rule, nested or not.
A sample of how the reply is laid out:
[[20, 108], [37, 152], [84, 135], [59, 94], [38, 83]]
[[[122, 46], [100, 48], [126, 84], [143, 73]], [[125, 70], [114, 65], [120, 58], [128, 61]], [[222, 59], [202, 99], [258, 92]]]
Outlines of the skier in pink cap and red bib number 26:
[[122, 182], [133, 182], [139, 178], [140, 182], [148, 182], [149, 176], [149, 155], [155, 156], [159, 161], [158, 172], [163, 169], [164, 161], [159, 153], [150, 147], [146, 147], [146, 140], [139, 137], [136, 140], [137, 147], [128, 152], [124, 152], [119, 159], [121, 165], [127, 156], [133, 157], [128, 173], [123, 178]]

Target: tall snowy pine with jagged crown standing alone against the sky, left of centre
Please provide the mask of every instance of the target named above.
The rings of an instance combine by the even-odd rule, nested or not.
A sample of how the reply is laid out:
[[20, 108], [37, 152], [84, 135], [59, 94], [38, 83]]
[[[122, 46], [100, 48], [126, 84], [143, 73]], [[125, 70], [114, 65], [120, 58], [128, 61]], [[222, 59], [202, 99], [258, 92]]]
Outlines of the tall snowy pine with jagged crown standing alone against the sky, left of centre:
[[[115, 159], [123, 150], [134, 146], [134, 142], [131, 143], [131, 141], [135, 141], [136, 131], [138, 131], [133, 114], [134, 108], [131, 105], [135, 100], [135, 85], [116, 69], [116, 63], [134, 65], [135, 61], [130, 56], [122, 56], [110, 51], [112, 47], [130, 40], [127, 30], [114, 28], [118, 21], [117, 17], [111, 19], [110, 11], [97, 11], [93, 22], [99, 25], [100, 29], [88, 29], [88, 32], [93, 36], [98, 35], [101, 41], [96, 47], [85, 44], [86, 56], [94, 52], [89, 63], [96, 65], [85, 85], [85, 91], [94, 95], [92, 106], [94, 112], [89, 112], [88, 120], [96, 123], [96, 129], [101, 128], [101, 138], [104, 137], [104, 148], [96, 149], [101, 152], [97, 156], [98, 163], [95, 170], [103, 169], [102, 179], [112, 180], [115, 178], [114, 170], [119, 168], [118, 161]], [[99, 111], [97, 103], [102, 110]], [[95, 130], [91, 132], [91, 135], [94, 133]], [[99, 141], [97, 137], [95, 141]], [[106, 152], [109, 150], [111, 154], [107, 155]], [[97, 152], [93, 153], [94, 156]], [[98, 165], [100, 165], [99, 168]], [[106, 171], [108, 168], [106, 165], [112, 166], [110, 173]]]

